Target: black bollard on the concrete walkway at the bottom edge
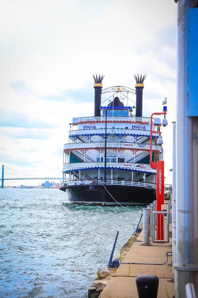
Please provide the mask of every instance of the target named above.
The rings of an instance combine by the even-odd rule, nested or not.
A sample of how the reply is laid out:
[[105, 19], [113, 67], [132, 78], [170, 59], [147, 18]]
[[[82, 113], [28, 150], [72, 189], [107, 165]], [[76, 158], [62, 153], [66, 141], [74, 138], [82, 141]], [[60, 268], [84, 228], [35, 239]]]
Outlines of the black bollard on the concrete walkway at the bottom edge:
[[139, 298], [157, 298], [159, 279], [155, 275], [139, 275], [136, 279]]

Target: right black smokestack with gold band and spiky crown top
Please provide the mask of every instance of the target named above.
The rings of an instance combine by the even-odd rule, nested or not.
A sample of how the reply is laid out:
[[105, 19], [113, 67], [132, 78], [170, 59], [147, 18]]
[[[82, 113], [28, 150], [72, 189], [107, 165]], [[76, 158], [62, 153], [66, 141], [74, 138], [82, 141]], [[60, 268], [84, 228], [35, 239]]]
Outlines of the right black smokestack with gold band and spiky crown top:
[[142, 102], [143, 102], [143, 89], [144, 89], [144, 80], [147, 75], [138, 76], [135, 74], [136, 79], [136, 117], [142, 117]]

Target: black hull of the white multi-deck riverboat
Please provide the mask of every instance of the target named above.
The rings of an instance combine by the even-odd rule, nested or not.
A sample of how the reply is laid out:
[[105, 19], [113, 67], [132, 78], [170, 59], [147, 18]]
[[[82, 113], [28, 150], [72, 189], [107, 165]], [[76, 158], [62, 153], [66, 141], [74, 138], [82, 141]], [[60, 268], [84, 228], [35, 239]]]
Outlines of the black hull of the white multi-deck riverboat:
[[65, 191], [69, 201], [76, 204], [145, 206], [156, 200], [153, 188], [126, 185], [106, 185], [105, 188], [95, 185], [94, 190], [90, 190], [89, 185], [68, 185], [60, 190]]

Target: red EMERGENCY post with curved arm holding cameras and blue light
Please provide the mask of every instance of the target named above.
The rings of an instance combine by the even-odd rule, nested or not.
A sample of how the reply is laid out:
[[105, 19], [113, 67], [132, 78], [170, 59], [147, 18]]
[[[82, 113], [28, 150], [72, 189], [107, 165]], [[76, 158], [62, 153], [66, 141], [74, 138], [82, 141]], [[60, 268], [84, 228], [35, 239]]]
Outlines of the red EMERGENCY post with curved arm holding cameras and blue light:
[[[161, 205], [164, 204], [164, 161], [157, 160], [156, 162], [152, 161], [152, 134], [159, 134], [157, 144], [160, 146], [163, 144], [160, 131], [152, 131], [152, 117], [153, 115], [164, 115], [162, 120], [162, 125], [165, 127], [168, 125], [166, 120], [167, 107], [163, 107], [163, 112], [152, 113], [150, 116], [150, 167], [156, 169], [156, 211], [161, 211]], [[157, 240], [164, 240], [164, 230], [163, 230], [163, 215], [157, 215]]]

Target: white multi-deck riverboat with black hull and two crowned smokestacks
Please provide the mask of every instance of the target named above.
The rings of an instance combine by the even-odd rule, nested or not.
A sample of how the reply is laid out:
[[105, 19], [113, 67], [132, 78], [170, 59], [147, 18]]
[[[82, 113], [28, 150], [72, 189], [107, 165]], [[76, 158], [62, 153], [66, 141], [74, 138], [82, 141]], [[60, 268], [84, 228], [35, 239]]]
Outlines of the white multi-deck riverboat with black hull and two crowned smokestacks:
[[[71, 203], [144, 206], [156, 199], [156, 170], [149, 165], [150, 118], [142, 117], [146, 75], [135, 75], [136, 89], [102, 89], [103, 75], [93, 75], [95, 111], [73, 118], [69, 143], [63, 148], [63, 181]], [[112, 92], [112, 93], [111, 93]], [[101, 105], [101, 95], [109, 97]], [[129, 96], [136, 94], [136, 107]], [[136, 114], [133, 115], [133, 109]], [[152, 119], [152, 161], [162, 159], [159, 134]], [[154, 133], [156, 131], [156, 133]]]

